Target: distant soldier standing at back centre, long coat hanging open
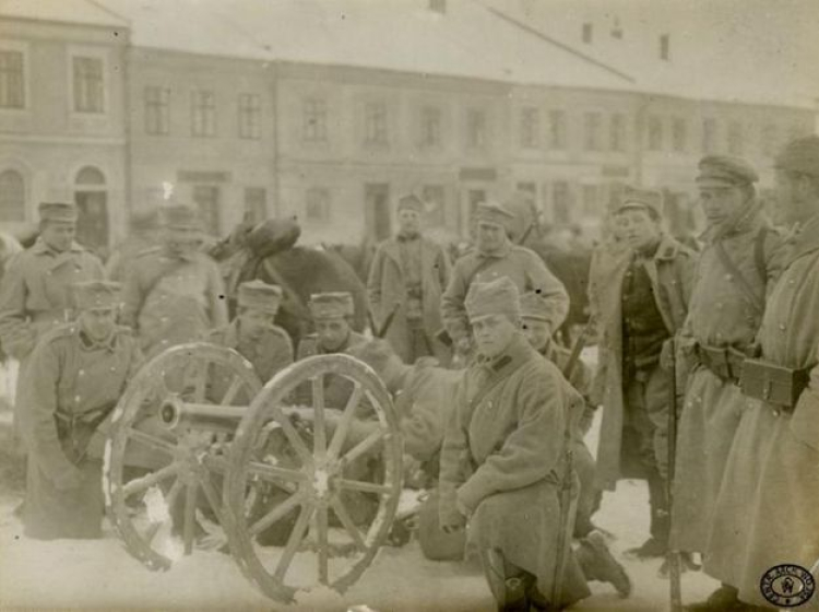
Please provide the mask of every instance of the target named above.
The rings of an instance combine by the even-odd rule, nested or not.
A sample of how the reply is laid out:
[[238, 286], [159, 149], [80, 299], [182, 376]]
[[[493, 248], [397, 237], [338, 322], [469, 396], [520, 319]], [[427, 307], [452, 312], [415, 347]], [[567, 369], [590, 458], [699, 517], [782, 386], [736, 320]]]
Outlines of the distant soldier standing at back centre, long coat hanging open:
[[450, 262], [440, 246], [420, 234], [423, 212], [416, 196], [399, 199], [399, 233], [378, 247], [367, 281], [376, 325], [388, 326], [387, 340], [410, 364], [425, 355], [447, 357], [436, 336]]

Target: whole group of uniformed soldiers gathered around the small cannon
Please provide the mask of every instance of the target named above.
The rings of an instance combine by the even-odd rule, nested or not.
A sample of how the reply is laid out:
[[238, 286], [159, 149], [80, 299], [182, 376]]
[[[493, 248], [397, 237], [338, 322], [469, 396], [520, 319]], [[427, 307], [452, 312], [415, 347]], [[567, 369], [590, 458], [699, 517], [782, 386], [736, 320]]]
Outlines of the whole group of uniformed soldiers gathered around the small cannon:
[[[462, 556], [468, 525], [499, 610], [559, 610], [595, 579], [629, 595], [592, 521], [601, 491], [624, 478], [649, 484], [650, 536], [630, 553], [673, 550], [687, 568], [698, 553], [722, 582], [690, 610], [775, 608], [765, 573], [816, 575], [819, 558], [819, 138], [776, 158], [778, 225], [757, 180], [744, 160], [700, 161], [700, 252], [664, 231], [658, 192], [613, 202], [581, 334], [598, 345], [594, 373], [582, 344], [553, 340], [569, 296], [510, 240], [515, 217], [500, 203], [477, 207], [474, 245], [453, 266], [423, 235], [423, 201], [400, 198], [399, 232], [367, 280], [383, 340], [353, 330], [349, 293], [328, 292], [311, 296], [314, 333], [295, 349], [275, 322], [283, 289], [257, 280], [226, 295], [194, 209], [163, 207], [161, 244], [119, 263], [120, 285], [74, 242], [75, 207], [44, 203], [36, 244], [0, 285], [2, 350], [21, 364], [25, 533], [99, 537], [104, 423], [146, 358], [205, 340], [268, 380], [295, 360], [345, 352], [394, 395], [405, 451], [436, 489], [425, 554]], [[348, 392], [325, 399], [344, 405]], [[597, 407], [595, 461], [583, 438]]]

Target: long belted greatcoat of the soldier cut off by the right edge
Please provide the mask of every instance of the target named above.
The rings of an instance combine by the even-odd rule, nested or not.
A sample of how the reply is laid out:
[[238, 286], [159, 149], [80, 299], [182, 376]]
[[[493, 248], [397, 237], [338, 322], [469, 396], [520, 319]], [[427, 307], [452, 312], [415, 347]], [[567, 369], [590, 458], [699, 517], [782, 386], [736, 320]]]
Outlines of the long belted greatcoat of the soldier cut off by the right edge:
[[759, 586], [768, 569], [819, 558], [819, 215], [788, 249], [758, 340], [761, 358], [808, 368], [810, 384], [791, 414], [746, 399], [704, 557], [711, 576], [756, 605], [770, 605]]

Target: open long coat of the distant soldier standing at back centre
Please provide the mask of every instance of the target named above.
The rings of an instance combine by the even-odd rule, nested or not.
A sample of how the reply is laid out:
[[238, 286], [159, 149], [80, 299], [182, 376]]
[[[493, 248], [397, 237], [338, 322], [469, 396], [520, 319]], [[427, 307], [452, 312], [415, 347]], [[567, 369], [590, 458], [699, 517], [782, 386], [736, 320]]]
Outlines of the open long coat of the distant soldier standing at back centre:
[[[447, 348], [436, 339], [436, 334], [443, 328], [441, 294], [449, 282], [451, 264], [440, 246], [424, 237], [420, 237], [419, 242], [424, 331], [434, 355], [446, 358]], [[410, 363], [412, 348], [406, 320], [406, 279], [397, 238], [389, 238], [378, 247], [367, 280], [367, 295], [373, 319], [379, 326], [383, 325], [395, 304], [400, 304], [385, 339], [404, 363]]]

